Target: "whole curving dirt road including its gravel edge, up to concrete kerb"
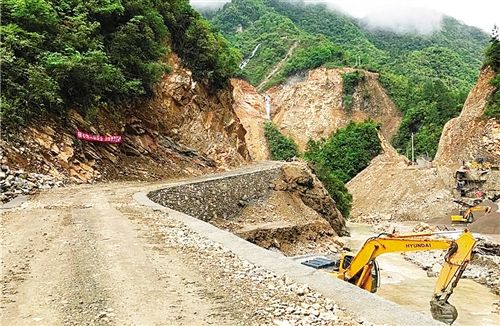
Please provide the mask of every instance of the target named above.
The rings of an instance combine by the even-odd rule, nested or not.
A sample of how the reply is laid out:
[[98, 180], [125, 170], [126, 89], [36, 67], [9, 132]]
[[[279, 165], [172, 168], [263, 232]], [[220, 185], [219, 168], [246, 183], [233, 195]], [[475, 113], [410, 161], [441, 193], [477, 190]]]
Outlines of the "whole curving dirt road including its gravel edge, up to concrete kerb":
[[133, 199], [161, 185], [70, 186], [0, 209], [0, 324], [363, 322], [307, 286], [253, 265]]

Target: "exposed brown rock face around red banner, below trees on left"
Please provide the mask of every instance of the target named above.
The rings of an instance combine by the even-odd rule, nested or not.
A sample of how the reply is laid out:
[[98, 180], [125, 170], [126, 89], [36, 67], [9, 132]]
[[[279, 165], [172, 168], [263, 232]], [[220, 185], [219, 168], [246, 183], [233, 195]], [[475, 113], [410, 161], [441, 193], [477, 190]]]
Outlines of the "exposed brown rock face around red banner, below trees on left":
[[[193, 175], [245, 163], [245, 130], [232, 109], [231, 89], [210, 91], [193, 82], [175, 56], [169, 61], [174, 71], [163, 77], [152, 100], [116, 111], [103, 108], [93, 119], [71, 110], [65, 122], [36, 121], [14, 139], [0, 141], [7, 164], [91, 182]], [[77, 129], [121, 134], [123, 143], [81, 141]]]

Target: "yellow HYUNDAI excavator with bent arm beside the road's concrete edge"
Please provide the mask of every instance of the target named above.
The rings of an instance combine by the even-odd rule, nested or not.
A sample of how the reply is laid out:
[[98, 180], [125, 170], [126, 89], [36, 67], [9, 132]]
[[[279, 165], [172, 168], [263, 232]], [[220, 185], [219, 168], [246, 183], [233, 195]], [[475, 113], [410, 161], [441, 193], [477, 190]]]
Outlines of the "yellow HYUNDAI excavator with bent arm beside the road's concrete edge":
[[[458, 317], [457, 309], [448, 302], [462, 273], [471, 260], [476, 240], [468, 230], [456, 239], [437, 238], [448, 232], [412, 233], [406, 235], [382, 233], [366, 240], [356, 256], [343, 255], [336, 276], [370, 292], [380, 285], [378, 256], [391, 252], [448, 250], [439, 274], [432, 300], [432, 317], [451, 325]], [[456, 233], [456, 232], [455, 232]]]

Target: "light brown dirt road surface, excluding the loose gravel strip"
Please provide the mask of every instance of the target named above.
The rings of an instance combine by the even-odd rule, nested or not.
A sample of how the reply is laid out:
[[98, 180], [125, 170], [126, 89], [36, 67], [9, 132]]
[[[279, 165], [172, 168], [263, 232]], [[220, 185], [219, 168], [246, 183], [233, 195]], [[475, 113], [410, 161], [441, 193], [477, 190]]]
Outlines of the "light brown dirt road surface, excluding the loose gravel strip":
[[4, 211], [1, 324], [237, 324], [150, 225], [155, 212], [132, 199], [143, 189], [69, 187]]

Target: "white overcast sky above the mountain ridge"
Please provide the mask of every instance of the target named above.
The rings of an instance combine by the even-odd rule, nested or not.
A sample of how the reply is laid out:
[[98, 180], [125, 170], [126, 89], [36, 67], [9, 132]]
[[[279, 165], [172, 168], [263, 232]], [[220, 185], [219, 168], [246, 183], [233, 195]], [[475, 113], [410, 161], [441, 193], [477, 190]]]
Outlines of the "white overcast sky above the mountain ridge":
[[[224, 2], [229, 2], [229, 0], [190, 1], [195, 6], [220, 6]], [[409, 21], [412, 26], [422, 25], [422, 32], [435, 27], [439, 13], [455, 17], [487, 33], [491, 32], [494, 24], [500, 25], [498, 0], [306, 0], [305, 2], [328, 3], [354, 17], [368, 16], [374, 25], [389, 28]]]

